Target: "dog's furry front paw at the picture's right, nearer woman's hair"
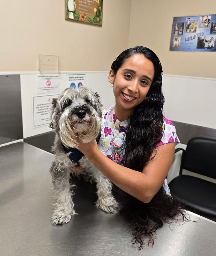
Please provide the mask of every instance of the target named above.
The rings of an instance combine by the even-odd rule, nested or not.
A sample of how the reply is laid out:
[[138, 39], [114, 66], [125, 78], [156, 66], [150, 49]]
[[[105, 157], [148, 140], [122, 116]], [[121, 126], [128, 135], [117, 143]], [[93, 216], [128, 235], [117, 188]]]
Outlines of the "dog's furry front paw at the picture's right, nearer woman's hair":
[[119, 208], [119, 203], [116, 201], [115, 198], [109, 196], [102, 199], [98, 198], [96, 202], [96, 207], [108, 213], [116, 213]]

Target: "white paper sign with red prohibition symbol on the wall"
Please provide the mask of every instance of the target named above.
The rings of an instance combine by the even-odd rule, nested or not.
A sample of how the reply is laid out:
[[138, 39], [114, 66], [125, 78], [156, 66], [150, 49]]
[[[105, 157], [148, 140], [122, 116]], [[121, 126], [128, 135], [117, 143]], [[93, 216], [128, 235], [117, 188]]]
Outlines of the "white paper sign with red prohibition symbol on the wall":
[[37, 77], [37, 92], [52, 93], [59, 92], [60, 78], [59, 75], [38, 75]]

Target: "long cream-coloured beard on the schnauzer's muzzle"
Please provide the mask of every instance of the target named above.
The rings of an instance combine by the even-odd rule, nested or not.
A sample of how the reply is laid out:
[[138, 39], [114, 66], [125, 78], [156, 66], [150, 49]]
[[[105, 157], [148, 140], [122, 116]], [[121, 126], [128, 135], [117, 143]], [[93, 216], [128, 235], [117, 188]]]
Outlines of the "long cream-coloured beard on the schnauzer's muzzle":
[[82, 119], [65, 110], [59, 119], [59, 133], [65, 147], [77, 148], [77, 139], [87, 143], [96, 139], [101, 132], [101, 118], [96, 111]]

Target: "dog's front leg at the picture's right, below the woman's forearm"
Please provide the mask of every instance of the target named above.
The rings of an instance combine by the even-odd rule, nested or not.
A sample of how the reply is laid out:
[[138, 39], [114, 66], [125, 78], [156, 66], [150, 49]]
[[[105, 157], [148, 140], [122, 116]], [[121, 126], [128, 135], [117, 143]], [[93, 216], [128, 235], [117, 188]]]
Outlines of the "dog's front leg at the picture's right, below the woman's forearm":
[[98, 200], [96, 202], [97, 208], [108, 213], [115, 213], [118, 211], [119, 203], [112, 194], [112, 183], [101, 171], [95, 176]]

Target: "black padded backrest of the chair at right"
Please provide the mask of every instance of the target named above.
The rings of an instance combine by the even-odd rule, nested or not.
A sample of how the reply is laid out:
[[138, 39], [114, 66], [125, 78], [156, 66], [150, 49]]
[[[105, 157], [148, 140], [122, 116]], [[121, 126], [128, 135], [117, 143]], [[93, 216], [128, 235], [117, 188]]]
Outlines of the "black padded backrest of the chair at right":
[[182, 168], [216, 179], [216, 140], [190, 139], [182, 158]]

